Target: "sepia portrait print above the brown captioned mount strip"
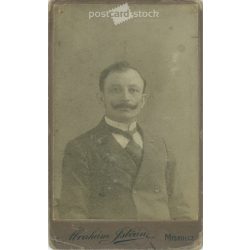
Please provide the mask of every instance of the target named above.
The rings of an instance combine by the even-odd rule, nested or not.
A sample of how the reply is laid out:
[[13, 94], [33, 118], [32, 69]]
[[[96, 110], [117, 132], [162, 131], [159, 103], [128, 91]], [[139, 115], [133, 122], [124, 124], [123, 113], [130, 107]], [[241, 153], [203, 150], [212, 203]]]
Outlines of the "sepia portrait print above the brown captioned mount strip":
[[198, 14], [185, 8], [119, 25], [55, 12], [55, 219], [198, 219]]

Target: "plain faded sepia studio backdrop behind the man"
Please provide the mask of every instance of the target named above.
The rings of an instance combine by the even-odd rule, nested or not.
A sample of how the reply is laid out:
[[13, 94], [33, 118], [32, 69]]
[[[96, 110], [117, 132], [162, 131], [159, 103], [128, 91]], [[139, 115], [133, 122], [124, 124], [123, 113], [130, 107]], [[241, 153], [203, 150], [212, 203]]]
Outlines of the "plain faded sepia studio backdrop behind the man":
[[66, 143], [94, 127], [103, 116], [104, 110], [96, 99], [100, 72], [113, 62], [127, 60], [148, 82], [149, 97], [139, 122], [165, 138], [177, 162], [176, 185], [189, 200], [193, 218], [198, 219], [198, 7], [129, 6], [131, 11], [155, 9], [160, 18], [132, 19], [115, 26], [109, 18], [89, 20], [88, 12], [117, 5], [54, 5], [51, 131], [54, 201], [60, 195]]

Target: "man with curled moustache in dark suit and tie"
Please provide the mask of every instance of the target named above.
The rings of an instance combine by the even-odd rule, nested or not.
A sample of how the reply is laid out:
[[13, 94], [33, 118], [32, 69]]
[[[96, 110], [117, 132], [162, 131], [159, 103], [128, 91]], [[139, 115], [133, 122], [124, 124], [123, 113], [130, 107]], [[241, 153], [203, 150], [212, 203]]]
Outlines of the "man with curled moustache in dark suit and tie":
[[65, 149], [59, 202], [63, 219], [188, 219], [174, 192], [165, 142], [137, 124], [146, 81], [127, 62], [100, 75], [105, 116]]

